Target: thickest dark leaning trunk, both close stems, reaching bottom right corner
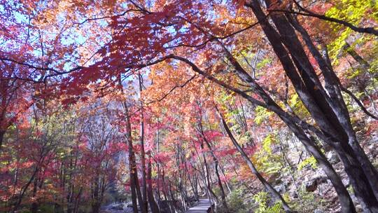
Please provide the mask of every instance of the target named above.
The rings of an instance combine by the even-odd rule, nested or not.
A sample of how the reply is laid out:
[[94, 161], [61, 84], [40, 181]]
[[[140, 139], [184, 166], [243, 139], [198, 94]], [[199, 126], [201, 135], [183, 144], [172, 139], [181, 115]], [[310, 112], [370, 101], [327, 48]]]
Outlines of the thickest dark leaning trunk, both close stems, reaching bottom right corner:
[[[367, 164], [370, 163], [370, 161], [367, 160], [366, 162], [366, 159], [363, 159], [365, 153], [358, 151], [353, 129], [350, 129], [350, 123], [348, 124], [346, 116], [341, 114], [342, 108], [344, 107], [340, 106], [340, 104], [329, 102], [330, 100], [325, 96], [322, 86], [318, 83], [318, 78], [316, 78], [316, 75], [314, 75], [314, 69], [311, 67], [311, 64], [309, 64], [308, 58], [304, 57], [305, 54], [302, 54], [304, 51], [301, 49], [302, 47], [299, 45], [300, 43], [297, 43], [295, 33], [290, 35], [288, 34], [288, 32], [292, 30], [290, 29], [290, 26], [288, 27], [282, 18], [277, 18], [276, 15], [273, 15], [272, 19], [281, 33], [281, 36], [279, 36], [269, 22], [267, 22], [265, 14], [262, 12], [258, 1], [251, 1], [249, 6], [252, 8], [253, 13], [255, 13], [256, 17], [260, 21], [261, 27], [267, 35], [269, 42], [272, 44], [276, 55], [279, 57], [286, 74], [290, 78], [290, 81], [292, 81], [295, 90], [302, 99], [304, 105], [309, 110], [311, 116], [313, 116], [326, 135], [332, 135], [333, 137], [338, 136], [336, 141], [343, 144], [340, 147], [344, 149], [336, 151], [338, 151], [340, 158], [346, 156], [346, 158], [344, 158], [342, 161], [344, 163], [344, 167], [346, 168], [346, 173], [349, 174], [349, 178], [354, 179], [354, 181], [351, 181], [353, 188], [355, 188], [360, 200], [365, 202], [367, 208], [375, 211], [374, 209], [377, 208], [377, 199], [374, 199], [374, 192], [370, 187], [371, 181], [369, 181], [367, 178], [367, 176], [371, 177], [371, 174], [374, 173], [374, 171]], [[289, 37], [290, 40], [288, 40]], [[293, 62], [291, 62], [290, 57], [286, 53], [286, 49], [281, 43], [281, 39], [283, 40], [283, 43], [286, 43], [286, 48], [288, 48], [292, 54], [294, 64], [298, 67], [298, 69], [300, 69], [300, 74], [302, 76], [297, 74]], [[302, 82], [301, 77], [304, 82]], [[334, 113], [334, 111], [336, 113]], [[339, 123], [339, 119], [341, 119], [341, 123]], [[330, 142], [328, 141], [328, 143]], [[357, 151], [356, 156], [354, 155], [353, 151], [351, 152], [348, 150], [350, 147], [349, 145], [351, 145], [352, 148], [353, 146], [356, 146], [353, 149], [353, 151]], [[335, 148], [335, 146], [333, 147]], [[361, 165], [358, 164], [358, 161], [361, 164], [367, 165], [367, 169], [361, 167]], [[354, 172], [349, 171], [349, 167], [353, 167]], [[370, 170], [370, 175], [366, 175], [366, 173], [369, 174], [369, 172], [366, 172], [366, 170]], [[365, 190], [365, 193], [363, 193], [361, 190]]]

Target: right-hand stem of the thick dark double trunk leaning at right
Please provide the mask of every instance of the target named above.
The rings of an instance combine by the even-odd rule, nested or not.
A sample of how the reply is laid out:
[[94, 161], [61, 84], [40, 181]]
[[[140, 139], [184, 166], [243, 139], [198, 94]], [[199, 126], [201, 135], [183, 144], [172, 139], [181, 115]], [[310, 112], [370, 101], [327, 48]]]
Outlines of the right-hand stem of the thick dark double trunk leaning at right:
[[[269, 1], [268, 5], [269, 5]], [[287, 15], [289, 16], [289, 15]], [[367, 181], [369, 181], [372, 191], [374, 192], [376, 198], [378, 198], [378, 172], [372, 166], [372, 163], [365, 155], [365, 152], [360, 147], [357, 139], [356, 133], [354, 132], [351, 121], [349, 118], [349, 112], [346, 109], [346, 104], [339, 89], [339, 81], [334, 71], [332, 70], [331, 64], [328, 64], [327, 67], [321, 67], [325, 81], [328, 84], [333, 85], [328, 88], [325, 92], [323, 86], [316, 75], [314, 68], [309, 62], [302, 43], [300, 43], [297, 38], [293, 27], [290, 25], [288, 19], [283, 15], [272, 15], [272, 20], [275, 23], [279, 33], [281, 34], [281, 39], [283, 44], [293, 56], [293, 60], [300, 70], [300, 74], [304, 83], [307, 85], [307, 90], [309, 95], [314, 98], [316, 104], [318, 105], [321, 113], [323, 113], [323, 118], [319, 114], [315, 115], [314, 111], [311, 111], [314, 108], [314, 104], [306, 103], [306, 99], [303, 98], [302, 101], [304, 105], [309, 109], [309, 112], [316, 120], [316, 123], [321, 127], [323, 132], [328, 132], [329, 135], [332, 135], [341, 142], [346, 149], [349, 149], [348, 146], [353, 150], [351, 157], [354, 158], [360, 163], [360, 170], [363, 170]], [[309, 38], [307, 38], [309, 39]], [[310, 43], [307, 42], [307, 45]], [[311, 44], [310, 44], [311, 45]], [[316, 49], [312, 49], [314, 53]], [[317, 50], [316, 50], [317, 51]]]

